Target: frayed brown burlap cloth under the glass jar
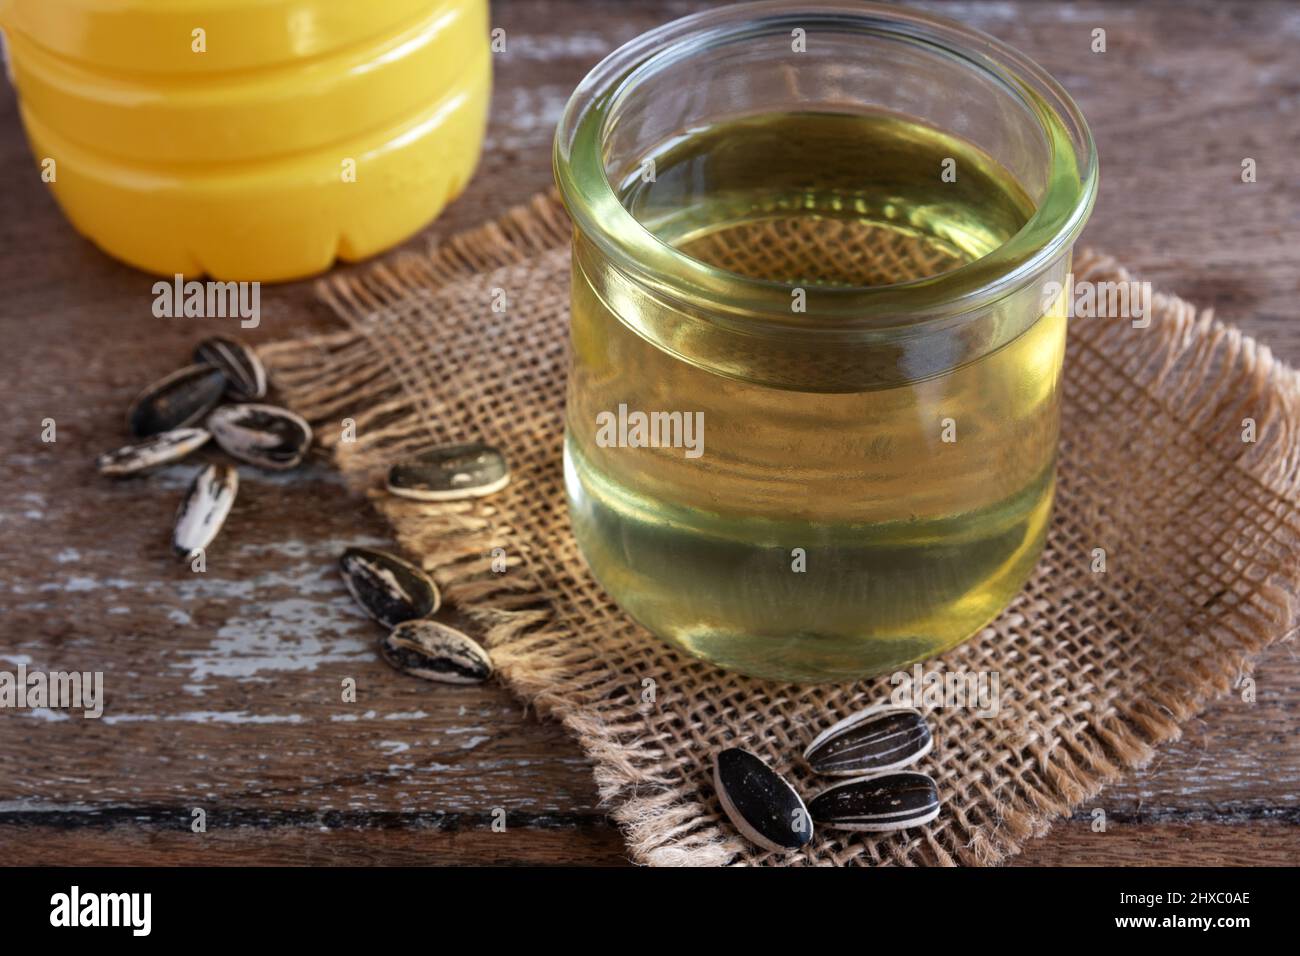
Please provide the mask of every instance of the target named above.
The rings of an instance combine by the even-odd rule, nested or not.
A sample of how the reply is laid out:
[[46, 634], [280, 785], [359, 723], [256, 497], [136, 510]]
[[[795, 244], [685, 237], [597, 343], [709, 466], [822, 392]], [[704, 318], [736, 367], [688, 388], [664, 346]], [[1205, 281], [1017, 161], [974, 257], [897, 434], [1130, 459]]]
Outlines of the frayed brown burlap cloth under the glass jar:
[[[318, 425], [348, 484], [490, 645], [499, 678], [560, 719], [645, 864], [996, 864], [1158, 744], [1288, 636], [1300, 578], [1300, 388], [1269, 350], [1170, 295], [1150, 326], [1071, 320], [1056, 516], [1030, 584], [927, 670], [996, 672], [996, 717], [930, 711], [939, 783], [928, 826], [820, 829], [768, 853], [722, 814], [710, 756], [741, 744], [805, 795], [798, 753], [823, 726], [888, 698], [888, 678], [794, 687], [670, 650], [589, 576], [560, 473], [569, 225], [552, 196], [320, 293], [346, 330], [265, 349], [286, 403]], [[1084, 252], [1076, 278], [1118, 281]], [[494, 311], [506, 291], [508, 307]], [[355, 441], [341, 441], [355, 419]], [[1257, 423], [1243, 441], [1243, 419]], [[504, 449], [514, 480], [473, 503], [384, 494], [433, 442]], [[491, 570], [493, 550], [511, 567]], [[1106, 571], [1092, 551], [1106, 551]], [[498, 553], [500, 554], [500, 553]], [[654, 680], [653, 702], [644, 700]]]

